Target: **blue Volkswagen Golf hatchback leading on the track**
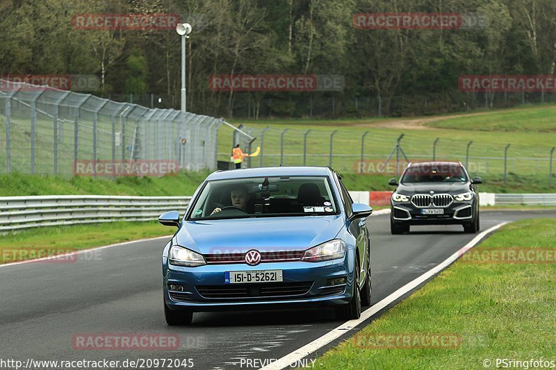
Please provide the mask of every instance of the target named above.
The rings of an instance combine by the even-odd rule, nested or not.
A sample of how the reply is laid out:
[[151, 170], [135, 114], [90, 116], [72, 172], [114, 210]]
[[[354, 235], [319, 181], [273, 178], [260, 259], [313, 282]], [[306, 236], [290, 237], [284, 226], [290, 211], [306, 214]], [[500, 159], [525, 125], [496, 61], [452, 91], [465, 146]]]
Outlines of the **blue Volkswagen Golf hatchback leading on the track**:
[[370, 305], [372, 208], [353, 203], [328, 167], [217, 171], [186, 215], [158, 220], [178, 230], [162, 255], [168, 325], [193, 312], [334, 305], [357, 319]]

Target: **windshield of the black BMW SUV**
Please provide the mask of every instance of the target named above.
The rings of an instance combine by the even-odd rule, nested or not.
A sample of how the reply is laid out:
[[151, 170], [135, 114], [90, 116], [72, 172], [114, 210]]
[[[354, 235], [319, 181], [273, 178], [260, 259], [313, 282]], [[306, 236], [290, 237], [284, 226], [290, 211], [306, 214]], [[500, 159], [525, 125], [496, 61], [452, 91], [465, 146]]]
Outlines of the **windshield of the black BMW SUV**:
[[467, 176], [463, 167], [455, 164], [415, 165], [404, 172], [402, 183], [465, 183]]

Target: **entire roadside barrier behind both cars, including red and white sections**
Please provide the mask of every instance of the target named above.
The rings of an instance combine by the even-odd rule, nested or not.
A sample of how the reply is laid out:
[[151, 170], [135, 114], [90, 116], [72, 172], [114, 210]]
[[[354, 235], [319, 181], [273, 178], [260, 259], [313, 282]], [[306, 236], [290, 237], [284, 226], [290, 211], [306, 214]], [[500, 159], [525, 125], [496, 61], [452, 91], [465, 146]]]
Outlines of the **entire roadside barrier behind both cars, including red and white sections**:
[[[388, 205], [391, 192], [350, 192], [357, 203]], [[149, 221], [163, 212], [183, 215], [190, 196], [49, 195], [0, 197], [0, 233], [36, 226]], [[480, 193], [481, 205], [556, 205], [556, 194]]]

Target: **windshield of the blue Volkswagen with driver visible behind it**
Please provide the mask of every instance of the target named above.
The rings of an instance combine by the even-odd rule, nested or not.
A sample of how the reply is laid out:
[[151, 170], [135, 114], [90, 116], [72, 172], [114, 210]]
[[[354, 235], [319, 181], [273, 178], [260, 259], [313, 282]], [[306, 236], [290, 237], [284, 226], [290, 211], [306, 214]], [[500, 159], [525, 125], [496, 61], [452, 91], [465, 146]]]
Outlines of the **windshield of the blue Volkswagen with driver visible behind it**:
[[209, 181], [188, 220], [334, 215], [336, 202], [324, 176], [276, 176]]

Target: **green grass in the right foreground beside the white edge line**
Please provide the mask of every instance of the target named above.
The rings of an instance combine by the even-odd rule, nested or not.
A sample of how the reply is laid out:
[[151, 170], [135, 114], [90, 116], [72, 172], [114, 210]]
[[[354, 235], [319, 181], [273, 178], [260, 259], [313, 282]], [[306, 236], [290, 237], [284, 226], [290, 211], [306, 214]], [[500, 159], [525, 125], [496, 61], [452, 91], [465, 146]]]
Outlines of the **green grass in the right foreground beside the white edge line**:
[[[509, 224], [474, 251], [556, 249], [556, 220]], [[470, 253], [470, 252], [468, 252]], [[455, 333], [457, 348], [361, 348], [354, 339], [316, 361], [319, 369], [482, 369], [483, 360], [556, 358], [556, 264], [461, 260], [361, 331]], [[494, 365], [492, 366], [494, 367]]]

